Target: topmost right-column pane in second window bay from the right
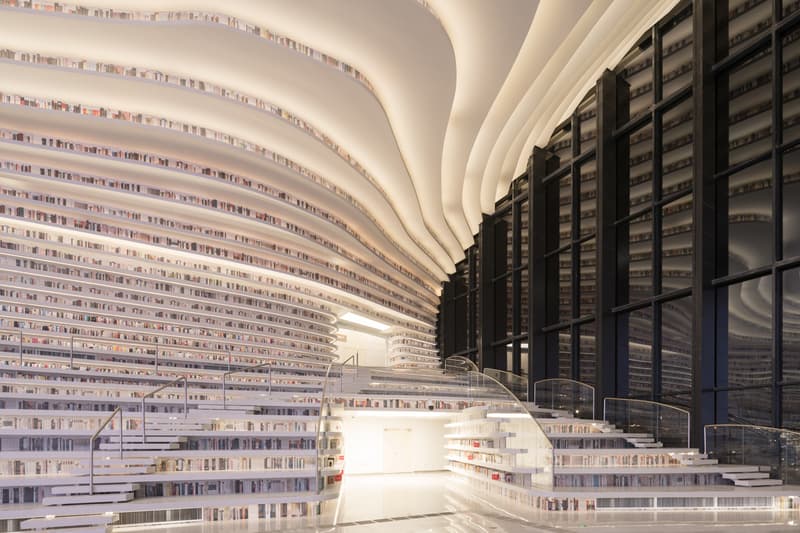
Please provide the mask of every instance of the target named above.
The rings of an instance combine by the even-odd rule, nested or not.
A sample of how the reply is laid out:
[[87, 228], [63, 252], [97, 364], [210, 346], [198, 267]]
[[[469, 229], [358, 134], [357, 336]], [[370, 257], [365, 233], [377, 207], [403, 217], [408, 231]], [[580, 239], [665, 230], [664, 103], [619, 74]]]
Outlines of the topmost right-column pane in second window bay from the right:
[[686, 9], [661, 37], [662, 98], [692, 82], [692, 10]]

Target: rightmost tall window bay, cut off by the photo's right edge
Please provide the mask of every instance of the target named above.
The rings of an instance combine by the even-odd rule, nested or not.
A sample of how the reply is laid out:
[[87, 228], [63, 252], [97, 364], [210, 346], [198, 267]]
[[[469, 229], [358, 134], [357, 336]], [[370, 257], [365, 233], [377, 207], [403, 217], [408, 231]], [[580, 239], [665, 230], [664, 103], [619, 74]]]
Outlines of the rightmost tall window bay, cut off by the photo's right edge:
[[798, 2], [728, 4], [718, 50], [718, 416], [800, 427]]

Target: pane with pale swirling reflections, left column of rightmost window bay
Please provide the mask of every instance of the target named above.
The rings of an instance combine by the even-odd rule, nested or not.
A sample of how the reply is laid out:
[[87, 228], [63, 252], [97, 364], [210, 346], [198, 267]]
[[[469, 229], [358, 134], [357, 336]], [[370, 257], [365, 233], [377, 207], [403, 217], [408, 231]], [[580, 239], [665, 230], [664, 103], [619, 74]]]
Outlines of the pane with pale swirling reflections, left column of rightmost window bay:
[[[772, 276], [731, 285], [728, 295], [728, 386], [772, 381]], [[721, 351], [724, 354], [724, 349]]]

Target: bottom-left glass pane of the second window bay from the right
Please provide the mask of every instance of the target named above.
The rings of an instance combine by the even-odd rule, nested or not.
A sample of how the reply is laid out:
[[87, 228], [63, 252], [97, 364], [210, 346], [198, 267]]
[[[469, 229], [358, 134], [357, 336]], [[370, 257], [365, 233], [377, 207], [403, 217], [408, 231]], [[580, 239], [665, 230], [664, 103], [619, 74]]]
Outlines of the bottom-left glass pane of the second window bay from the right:
[[653, 392], [653, 310], [632, 311], [628, 320], [628, 383], [631, 396]]

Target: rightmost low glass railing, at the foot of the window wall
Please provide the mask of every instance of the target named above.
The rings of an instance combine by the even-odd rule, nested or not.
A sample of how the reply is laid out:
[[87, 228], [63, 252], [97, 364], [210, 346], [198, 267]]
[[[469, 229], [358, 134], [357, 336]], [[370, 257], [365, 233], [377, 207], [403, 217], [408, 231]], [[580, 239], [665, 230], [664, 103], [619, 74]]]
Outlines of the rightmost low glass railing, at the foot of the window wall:
[[769, 466], [770, 477], [800, 485], [800, 432], [748, 424], [703, 428], [703, 450], [726, 465]]

